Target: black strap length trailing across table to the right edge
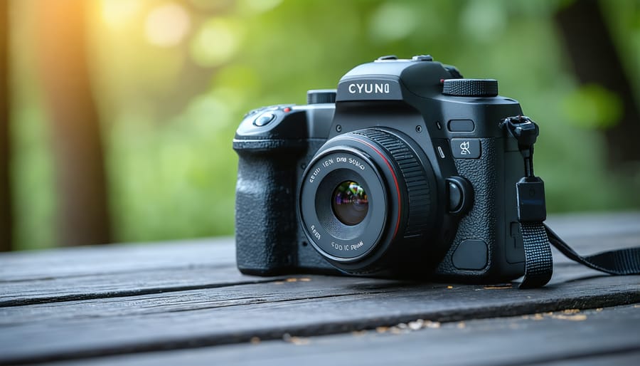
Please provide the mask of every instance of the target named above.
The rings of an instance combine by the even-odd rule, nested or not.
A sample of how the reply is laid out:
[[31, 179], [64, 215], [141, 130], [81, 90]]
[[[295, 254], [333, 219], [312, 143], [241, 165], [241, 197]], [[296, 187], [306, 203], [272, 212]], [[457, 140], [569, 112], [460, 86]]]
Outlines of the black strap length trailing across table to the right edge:
[[549, 229], [549, 226], [544, 226], [551, 244], [572, 261], [612, 275], [640, 274], [640, 247], [604, 251], [583, 257], [571, 249], [565, 241], [562, 241], [558, 234]]

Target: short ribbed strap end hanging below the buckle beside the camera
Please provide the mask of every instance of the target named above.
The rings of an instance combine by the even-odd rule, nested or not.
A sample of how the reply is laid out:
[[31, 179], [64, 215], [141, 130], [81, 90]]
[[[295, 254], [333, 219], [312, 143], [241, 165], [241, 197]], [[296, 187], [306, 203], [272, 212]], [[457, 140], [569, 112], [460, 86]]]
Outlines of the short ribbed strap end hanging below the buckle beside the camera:
[[553, 258], [545, 228], [542, 222], [521, 223], [525, 274], [519, 288], [542, 287], [551, 279]]

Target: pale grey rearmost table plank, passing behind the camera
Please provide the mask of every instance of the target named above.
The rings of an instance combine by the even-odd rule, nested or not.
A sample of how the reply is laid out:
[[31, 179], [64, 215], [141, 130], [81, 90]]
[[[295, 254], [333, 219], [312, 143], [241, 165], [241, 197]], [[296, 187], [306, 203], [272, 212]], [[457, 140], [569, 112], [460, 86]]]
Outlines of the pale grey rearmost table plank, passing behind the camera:
[[[550, 224], [580, 253], [640, 245], [639, 213], [575, 216], [580, 224], [571, 217], [555, 216]], [[269, 281], [240, 275], [233, 245], [233, 239], [223, 238], [7, 253], [0, 255], [0, 306]], [[554, 261], [570, 262], [557, 251]], [[572, 274], [559, 269], [554, 279], [568, 281]]]

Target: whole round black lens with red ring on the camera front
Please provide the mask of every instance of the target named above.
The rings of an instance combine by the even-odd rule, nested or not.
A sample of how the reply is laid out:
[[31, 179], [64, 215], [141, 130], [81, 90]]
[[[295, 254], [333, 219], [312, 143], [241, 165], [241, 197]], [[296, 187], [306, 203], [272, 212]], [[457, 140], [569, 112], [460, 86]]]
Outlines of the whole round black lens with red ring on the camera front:
[[425, 239], [434, 223], [434, 185], [427, 158], [400, 132], [338, 135], [304, 172], [298, 205], [304, 232], [343, 271], [384, 271], [399, 256], [417, 255], [407, 243]]

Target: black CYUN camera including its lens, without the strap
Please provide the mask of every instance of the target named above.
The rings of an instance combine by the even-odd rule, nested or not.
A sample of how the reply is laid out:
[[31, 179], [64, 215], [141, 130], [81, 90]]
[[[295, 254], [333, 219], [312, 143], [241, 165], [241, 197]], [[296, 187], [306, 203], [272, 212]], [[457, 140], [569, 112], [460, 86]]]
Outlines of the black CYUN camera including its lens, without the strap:
[[524, 273], [522, 114], [497, 81], [430, 56], [378, 58], [307, 105], [245, 115], [236, 247], [242, 273], [347, 273], [495, 283]]

